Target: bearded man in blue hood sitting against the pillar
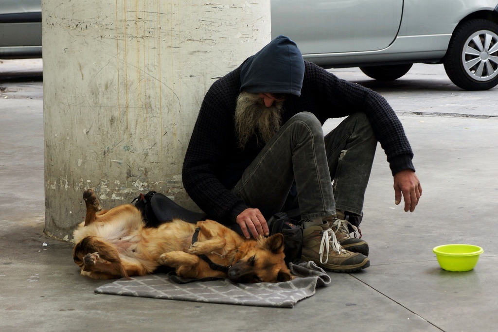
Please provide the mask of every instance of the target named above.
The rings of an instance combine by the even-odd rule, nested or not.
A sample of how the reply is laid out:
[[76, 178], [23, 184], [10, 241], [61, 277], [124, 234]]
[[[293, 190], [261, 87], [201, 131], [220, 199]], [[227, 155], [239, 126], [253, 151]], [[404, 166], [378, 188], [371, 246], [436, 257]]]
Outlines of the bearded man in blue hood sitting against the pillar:
[[[347, 116], [323, 135], [331, 117]], [[352, 272], [370, 265], [363, 216], [377, 140], [394, 177], [395, 203], [413, 212], [422, 188], [403, 127], [384, 98], [303, 60], [278, 36], [209, 89], [183, 164], [193, 201], [244, 235], [268, 235], [266, 219], [299, 208], [304, 260]], [[333, 180], [333, 182], [332, 182]]]

